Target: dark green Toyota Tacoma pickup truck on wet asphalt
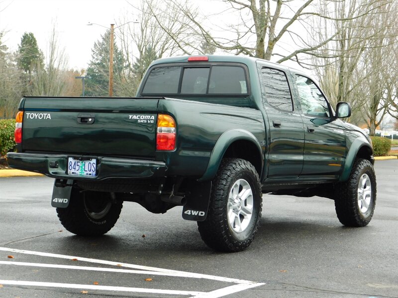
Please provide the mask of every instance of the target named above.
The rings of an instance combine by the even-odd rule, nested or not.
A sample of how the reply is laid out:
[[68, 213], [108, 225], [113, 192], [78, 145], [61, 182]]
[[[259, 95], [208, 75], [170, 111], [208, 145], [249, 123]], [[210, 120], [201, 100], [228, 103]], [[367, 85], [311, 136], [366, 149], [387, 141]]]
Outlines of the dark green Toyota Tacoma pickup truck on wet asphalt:
[[166, 58], [134, 98], [22, 98], [7, 161], [55, 178], [51, 204], [72, 233], [106, 233], [125, 201], [152, 213], [183, 206], [209, 247], [241, 251], [257, 232], [263, 194], [330, 198], [342, 224], [370, 222], [373, 149], [340, 120], [350, 114], [279, 64]]

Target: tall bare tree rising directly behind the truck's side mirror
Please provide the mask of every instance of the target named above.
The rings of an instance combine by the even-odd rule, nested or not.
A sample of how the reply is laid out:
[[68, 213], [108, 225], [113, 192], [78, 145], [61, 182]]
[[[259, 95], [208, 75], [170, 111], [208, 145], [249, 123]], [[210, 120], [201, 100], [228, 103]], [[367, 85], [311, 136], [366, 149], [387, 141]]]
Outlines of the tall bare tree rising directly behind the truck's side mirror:
[[371, 41], [383, 33], [383, 28], [374, 26], [372, 20], [386, 3], [383, 0], [323, 1], [317, 6], [322, 17], [311, 21], [315, 45], [325, 42], [330, 34], [335, 38], [324, 43], [318, 55], [311, 56], [310, 64], [315, 66], [314, 73], [333, 104], [340, 101], [351, 104], [350, 121], [356, 124], [362, 121], [364, 98], [358, 88], [366, 75], [356, 70]]

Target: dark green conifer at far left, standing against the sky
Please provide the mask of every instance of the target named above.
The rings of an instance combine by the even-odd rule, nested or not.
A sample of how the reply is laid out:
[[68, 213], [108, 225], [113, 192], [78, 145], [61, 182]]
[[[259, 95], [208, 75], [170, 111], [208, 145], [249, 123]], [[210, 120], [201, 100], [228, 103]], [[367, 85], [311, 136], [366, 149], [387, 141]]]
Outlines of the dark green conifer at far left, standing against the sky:
[[43, 53], [32, 32], [23, 33], [21, 44], [18, 45], [18, 54], [18, 67], [26, 74], [30, 74], [33, 69], [43, 68]]

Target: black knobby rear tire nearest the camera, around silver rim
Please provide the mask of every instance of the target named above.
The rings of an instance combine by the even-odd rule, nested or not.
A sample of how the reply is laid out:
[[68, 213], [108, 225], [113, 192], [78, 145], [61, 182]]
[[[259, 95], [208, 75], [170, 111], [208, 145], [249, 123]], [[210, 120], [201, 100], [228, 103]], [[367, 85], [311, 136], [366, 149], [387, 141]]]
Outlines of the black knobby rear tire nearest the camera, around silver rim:
[[[252, 198], [252, 215], [247, 226], [241, 232], [234, 230], [228, 222], [228, 201], [232, 186], [236, 183], [250, 185]], [[240, 191], [240, 190], [239, 190]], [[231, 206], [231, 205], [230, 205]], [[241, 205], [239, 205], [241, 206]], [[251, 208], [251, 207], [250, 207]], [[243, 208], [242, 208], [243, 209]], [[246, 249], [253, 241], [258, 229], [262, 210], [262, 193], [260, 178], [254, 166], [240, 158], [225, 158], [213, 179], [209, 209], [206, 220], [198, 222], [200, 236], [212, 249], [226, 252], [237, 252]], [[235, 215], [234, 215], [235, 216]], [[235, 220], [239, 220], [235, 216]]]

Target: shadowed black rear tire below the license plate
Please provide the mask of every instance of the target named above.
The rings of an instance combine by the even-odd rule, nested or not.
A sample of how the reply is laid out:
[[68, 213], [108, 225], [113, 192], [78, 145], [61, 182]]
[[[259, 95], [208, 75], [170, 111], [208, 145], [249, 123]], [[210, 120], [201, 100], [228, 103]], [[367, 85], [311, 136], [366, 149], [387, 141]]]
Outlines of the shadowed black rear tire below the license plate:
[[80, 236], [99, 236], [117, 222], [122, 201], [111, 200], [110, 193], [73, 189], [67, 208], [57, 208], [61, 224]]

